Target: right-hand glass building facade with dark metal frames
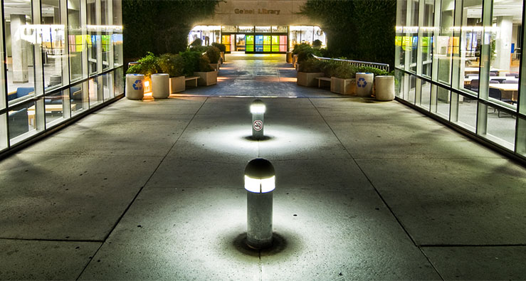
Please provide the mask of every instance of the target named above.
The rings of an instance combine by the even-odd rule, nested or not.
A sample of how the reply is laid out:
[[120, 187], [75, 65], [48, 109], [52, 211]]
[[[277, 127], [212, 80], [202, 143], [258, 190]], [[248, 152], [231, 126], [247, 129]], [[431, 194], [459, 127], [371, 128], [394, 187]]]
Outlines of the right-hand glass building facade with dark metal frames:
[[526, 159], [522, 0], [398, 0], [398, 100]]

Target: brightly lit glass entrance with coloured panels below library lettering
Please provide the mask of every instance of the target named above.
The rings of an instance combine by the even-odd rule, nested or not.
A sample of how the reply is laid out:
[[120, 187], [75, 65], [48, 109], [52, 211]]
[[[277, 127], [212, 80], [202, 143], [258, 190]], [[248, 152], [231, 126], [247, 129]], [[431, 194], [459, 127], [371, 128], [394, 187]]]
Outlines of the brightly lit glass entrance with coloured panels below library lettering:
[[[214, 31], [214, 41], [205, 41], [206, 31]], [[203, 46], [221, 42], [226, 53], [286, 53], [295, 44], [320, 40], [326, 45], [325, 33], [318, 26], [195, 26], [189, 33], [189, 43], [203, 39]], [[221, 38], [221, 40], [219, 40]]]

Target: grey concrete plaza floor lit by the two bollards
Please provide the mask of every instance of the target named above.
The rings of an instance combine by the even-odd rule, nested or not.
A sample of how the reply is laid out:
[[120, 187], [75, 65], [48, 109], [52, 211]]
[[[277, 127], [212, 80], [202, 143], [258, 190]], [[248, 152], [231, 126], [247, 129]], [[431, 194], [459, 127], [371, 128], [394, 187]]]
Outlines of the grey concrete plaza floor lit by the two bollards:
[[[263, 98], [263, 141], [253, 98], [215, 92], [118, 100], [1, 159], [0, 279], [525, 279], [523, 166], [399, 102], [320, 98], [276, 71], [253, 92], [313, 92]], [[256, 157], [276, 170], [262, 251], [243, 243]]]

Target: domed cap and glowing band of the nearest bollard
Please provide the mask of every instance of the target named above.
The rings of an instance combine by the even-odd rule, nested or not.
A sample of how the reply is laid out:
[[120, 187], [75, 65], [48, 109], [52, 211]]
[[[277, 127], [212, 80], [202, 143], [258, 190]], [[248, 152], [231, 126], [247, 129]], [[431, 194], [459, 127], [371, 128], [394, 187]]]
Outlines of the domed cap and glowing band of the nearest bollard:
[[256, 158], [245, 167], [245, 189], [253, 193], [267, 193], [275, 189], [275, 170], [270, 161]]

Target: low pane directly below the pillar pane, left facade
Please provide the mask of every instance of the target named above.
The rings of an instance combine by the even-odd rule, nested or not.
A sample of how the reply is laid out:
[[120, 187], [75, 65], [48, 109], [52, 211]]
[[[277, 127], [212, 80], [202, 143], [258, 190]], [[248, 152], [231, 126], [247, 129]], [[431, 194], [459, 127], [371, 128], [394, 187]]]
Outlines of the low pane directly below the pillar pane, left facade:
[[11, 108], [8, 112], [9, 139], [11, 144], [27, 139], [36, 132], [35, 102]]

